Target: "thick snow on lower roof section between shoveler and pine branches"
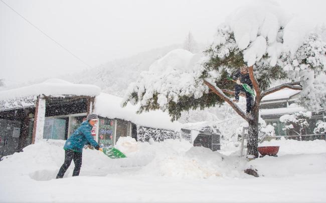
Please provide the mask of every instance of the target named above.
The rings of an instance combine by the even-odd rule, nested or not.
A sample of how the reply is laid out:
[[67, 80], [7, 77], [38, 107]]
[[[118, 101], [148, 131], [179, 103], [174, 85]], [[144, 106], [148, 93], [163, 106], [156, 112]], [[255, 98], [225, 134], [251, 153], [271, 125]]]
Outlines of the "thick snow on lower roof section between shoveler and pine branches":
[[94, 112], [103, 117], [129, 120], [135, 124], [147, 127], [177, 131], [181, 128], [181, 123], [178, 121], [172, 122], [167, 112], [155, 110], [137, 114], [137, 106], [128, 103], [125, 107], [121, 107], [121, 101], [121, 97], [101, 92], [95, 98]]

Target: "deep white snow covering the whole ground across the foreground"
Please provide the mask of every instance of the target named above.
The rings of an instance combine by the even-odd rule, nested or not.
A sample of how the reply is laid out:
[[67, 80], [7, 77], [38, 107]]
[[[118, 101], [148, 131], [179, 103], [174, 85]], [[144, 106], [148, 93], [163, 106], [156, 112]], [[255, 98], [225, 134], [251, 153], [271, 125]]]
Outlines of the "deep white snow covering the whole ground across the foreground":
[[[128, 157], [83, 151], [80, 176], [63, 163], [63, 140], [42, 140], [0, 161], [1, 202], [325, 202], [326, 142], [275, 140], [278, 157], [247, 161], [232, 142], [220, 152], [185, 140], [119, 139]], [[233, 150], [224, 155], [224, 150]], [[227, 152], [229, 154], [229, 152]], [[248, 167], [260, 177], [245, 174]]]

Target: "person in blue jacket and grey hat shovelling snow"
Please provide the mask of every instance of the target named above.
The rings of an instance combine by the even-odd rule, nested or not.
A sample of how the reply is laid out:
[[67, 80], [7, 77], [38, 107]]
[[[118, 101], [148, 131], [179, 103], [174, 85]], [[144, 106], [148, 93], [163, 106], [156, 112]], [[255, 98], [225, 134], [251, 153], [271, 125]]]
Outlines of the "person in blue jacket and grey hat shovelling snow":
[[86, 117], [87, 120], [82, 122], [80, 127], [67, 139], [65, 149], [65, 160], [59, 169], [57, 178], [62, 178], [68, 169], [72, 160], [74, 160], [75, 168], [72, 176], [78, 176], [82, 164], [83, 147], [86, 144], [91, 144], [95, 149], [99, 149], [98, 143], [93, 139], [91, 130], [98, 120], [96, 114], [90, 113]]

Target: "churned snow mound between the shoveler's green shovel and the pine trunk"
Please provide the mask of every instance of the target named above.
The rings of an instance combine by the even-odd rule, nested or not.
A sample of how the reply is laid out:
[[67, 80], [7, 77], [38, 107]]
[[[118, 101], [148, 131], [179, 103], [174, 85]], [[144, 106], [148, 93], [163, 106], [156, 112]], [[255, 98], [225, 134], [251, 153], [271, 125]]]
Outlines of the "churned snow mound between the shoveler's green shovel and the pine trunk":
[[[172, 140], [170, 140], [172, 142]], [[246, 161], [244, 158], [225, 157], [219, 152], [189, 145], [188, 150], [176, 150], [162, 144], [155, 143], [157, 153], [148, 165], [139, 172], [172, 176], [179, 178], [209, 178], [215, 176], [243, 177], [242, 172]]]

